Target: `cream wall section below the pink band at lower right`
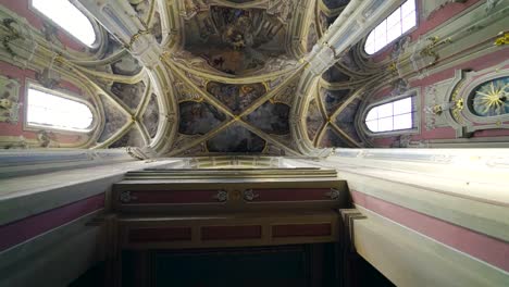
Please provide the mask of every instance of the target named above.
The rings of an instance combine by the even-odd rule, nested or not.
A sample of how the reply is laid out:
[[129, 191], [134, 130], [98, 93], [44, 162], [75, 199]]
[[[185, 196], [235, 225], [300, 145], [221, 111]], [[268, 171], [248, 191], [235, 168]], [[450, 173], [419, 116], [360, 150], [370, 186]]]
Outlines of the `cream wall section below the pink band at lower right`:
[[509, 275], [469, 254], [359, 208], [353, 223], [359, 254], [397, 286], [507, 286]]

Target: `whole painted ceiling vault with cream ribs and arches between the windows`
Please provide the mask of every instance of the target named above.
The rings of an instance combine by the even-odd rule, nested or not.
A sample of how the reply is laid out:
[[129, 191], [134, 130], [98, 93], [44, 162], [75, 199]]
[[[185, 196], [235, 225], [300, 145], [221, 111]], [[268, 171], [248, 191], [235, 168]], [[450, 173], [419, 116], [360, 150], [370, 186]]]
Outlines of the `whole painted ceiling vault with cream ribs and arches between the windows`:
[[402, 2], [77, 1], [120, 42], [110, 59], [128, 52], [139, 67], [74, 67], [113, 107], [104, 116], [115, 128], [107, 121], [96, 148], [167, 157], [361, 147], [353, 118], [376, 74], [352, 47]]

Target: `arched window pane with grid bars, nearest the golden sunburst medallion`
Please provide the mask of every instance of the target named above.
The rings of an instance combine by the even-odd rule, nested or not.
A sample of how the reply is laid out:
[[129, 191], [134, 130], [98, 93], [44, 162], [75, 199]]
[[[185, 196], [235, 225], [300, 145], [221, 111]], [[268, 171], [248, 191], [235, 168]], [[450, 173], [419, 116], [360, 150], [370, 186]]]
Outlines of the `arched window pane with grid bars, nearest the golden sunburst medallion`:
[[372, 133], [412, 129], [415, 127], [413, 97], [395, 100], [372, 108], [365, 116], [365, 126]]

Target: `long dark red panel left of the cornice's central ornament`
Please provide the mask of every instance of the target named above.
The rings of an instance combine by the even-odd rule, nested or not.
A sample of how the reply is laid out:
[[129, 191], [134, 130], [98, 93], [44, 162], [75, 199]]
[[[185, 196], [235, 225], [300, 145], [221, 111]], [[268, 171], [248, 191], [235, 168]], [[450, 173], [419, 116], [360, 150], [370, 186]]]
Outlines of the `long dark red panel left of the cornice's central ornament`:
[[211, 202], [218, 202], [218, 199], [215, 198], [216, 195], [218, 195], [218, 190], [131, 191], [131, 201], [122, 202], [122, 204], [211, 203]]

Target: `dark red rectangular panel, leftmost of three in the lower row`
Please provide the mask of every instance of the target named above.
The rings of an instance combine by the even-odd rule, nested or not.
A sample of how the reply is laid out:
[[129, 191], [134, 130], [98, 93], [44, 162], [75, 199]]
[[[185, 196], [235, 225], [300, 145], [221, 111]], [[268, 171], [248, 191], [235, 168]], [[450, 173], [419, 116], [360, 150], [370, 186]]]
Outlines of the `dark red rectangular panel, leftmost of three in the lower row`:
[[131, 229], [128, 235], [128, 241], [134, 244], [189, 240], [191, 240], [190, 227], [137, 228]]

